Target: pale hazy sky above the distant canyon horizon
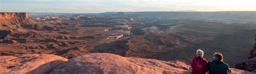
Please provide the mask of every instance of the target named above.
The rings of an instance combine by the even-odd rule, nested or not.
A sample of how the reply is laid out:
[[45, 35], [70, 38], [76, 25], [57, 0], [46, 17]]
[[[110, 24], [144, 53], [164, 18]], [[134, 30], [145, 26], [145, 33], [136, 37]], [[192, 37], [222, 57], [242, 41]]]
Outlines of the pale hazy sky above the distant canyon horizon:
[[0, 0], [0, 12], [256, 11], [256, 0]]

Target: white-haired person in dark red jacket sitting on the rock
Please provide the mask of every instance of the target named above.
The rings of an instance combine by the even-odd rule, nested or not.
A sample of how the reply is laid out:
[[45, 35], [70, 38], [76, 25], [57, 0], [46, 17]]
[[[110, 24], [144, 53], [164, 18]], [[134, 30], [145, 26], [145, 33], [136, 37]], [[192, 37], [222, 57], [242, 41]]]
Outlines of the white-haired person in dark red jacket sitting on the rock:
[[207, 73], [207, 61], [203, 58], [204, 51], [201, 49], [197, 50], [197, 57], [192, 60], [192, 74], [205, 74]]

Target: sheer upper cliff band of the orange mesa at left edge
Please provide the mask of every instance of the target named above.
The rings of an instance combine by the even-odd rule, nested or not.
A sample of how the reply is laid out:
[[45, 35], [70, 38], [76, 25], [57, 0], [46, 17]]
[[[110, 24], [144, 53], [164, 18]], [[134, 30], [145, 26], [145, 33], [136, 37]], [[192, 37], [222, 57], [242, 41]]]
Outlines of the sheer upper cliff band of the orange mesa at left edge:
[[0, 12], [0, 19], [28, 19], [28, 13]]

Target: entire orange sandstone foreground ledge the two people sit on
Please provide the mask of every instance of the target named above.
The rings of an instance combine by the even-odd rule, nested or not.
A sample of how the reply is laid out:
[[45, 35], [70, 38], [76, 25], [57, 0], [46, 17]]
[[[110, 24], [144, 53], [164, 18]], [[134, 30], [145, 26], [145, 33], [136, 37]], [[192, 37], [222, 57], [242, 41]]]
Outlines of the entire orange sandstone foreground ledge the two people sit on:
[[[87, 54], [67, 60], [57, 55], [28, 54], [0, 56], [0, 73], [191, 73], [180, 61]], [[232, 73], [253, 73], [231, 68]]]

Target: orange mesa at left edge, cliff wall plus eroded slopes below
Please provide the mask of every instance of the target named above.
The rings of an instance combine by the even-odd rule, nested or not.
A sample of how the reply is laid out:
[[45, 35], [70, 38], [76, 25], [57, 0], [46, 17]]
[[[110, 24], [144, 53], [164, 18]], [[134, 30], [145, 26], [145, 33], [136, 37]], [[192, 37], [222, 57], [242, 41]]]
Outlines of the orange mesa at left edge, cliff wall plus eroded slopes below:
[[28, 17], [26, 12], [0, 12], [0, 39], [5, 39], [17, 32], [27, 32], [28, 29], [24, 29], [23, 25], [32, 26], [36, 23]]

